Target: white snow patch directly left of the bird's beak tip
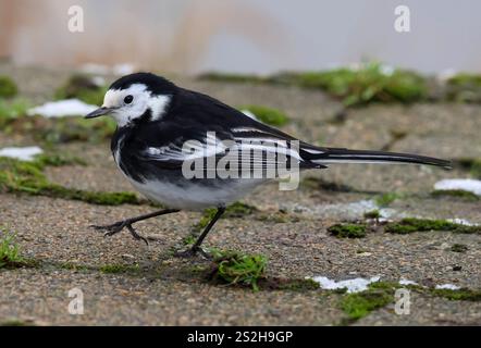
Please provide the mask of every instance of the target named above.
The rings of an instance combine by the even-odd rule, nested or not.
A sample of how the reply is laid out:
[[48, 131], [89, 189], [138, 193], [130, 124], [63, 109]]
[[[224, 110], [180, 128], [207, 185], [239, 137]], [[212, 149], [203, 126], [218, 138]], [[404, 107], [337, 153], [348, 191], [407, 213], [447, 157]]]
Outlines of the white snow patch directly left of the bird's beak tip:
[[46, 102], [42, 105], [29, 109], [27, 113], [44, 117], [83, 116], [96, 109], [96, 105], [87, 104], [78, 99], [65, 99]]

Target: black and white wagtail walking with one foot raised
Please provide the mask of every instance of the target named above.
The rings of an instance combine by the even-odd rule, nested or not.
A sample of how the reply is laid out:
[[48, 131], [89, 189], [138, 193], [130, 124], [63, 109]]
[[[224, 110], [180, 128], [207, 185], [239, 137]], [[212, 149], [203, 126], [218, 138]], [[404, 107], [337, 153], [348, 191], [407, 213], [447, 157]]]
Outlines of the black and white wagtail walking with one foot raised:
[[[281, 177], [283, 169], [324, 170], [332, 163], [452, 166], [447, 160], [419, 154], [311, 145], [215, 98], [147, 72], [113, 82], [102, 105], [85, 117], [104, 115], [116, 122], [110, 148], [118, 167], [135, 189], [165, 208], [92, 227], [104, 236], [126, 228], [135, 239], [148, 244], [133, 227], [134, 223], [181, 210], [217, 209], [194, 245], [176, 252], [180, 257], [197, 253], [208, 257], [201, 244], [227, 204], [257, 186]], [[224, 165], [224, 170], [231, 171], [230, 176], [217, 172], [219, 164], [225, 162], [229, 165]], [[202, 164], [199, 170], [196, 167], [195, 175], [193, 163]], [[244, 167], [247, 175], [244, 172], [234, 175]], [[255, 172], [262, 175], [255, 176]]]

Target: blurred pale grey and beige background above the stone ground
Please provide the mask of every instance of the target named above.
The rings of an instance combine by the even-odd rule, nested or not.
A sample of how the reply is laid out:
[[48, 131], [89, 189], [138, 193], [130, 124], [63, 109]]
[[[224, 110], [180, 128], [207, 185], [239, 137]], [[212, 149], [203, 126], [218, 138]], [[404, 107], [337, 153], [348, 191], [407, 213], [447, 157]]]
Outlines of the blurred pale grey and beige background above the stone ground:
[[[71, 5], [84, 33], [67, 29]], [[394, 9], [410, 9], [397, 33]], [[0, 57], [15, 64], [131, 64], [269, 74], [380, 60], [424, 73], [481, 71], [474, 0], [0, 0]]]

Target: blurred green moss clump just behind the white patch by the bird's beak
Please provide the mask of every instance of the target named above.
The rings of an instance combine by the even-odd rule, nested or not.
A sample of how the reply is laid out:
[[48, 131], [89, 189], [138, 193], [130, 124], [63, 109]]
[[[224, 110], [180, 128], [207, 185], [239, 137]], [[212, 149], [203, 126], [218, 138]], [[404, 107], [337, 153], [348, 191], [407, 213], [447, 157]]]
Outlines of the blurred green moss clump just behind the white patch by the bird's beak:
[[88, 104], [101, 105], [107, 86], [98, 86], [91, 76], [73, 75], [55, 91], [55, 99], [77, 98]]

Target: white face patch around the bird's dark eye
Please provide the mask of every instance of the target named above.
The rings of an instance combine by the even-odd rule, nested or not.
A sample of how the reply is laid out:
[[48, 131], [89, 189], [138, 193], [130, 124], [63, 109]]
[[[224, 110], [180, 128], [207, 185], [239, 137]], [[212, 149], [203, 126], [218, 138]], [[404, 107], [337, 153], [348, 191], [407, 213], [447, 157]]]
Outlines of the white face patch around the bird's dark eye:
[[[126, 96], [132, 96], [131, 103], [125, 103]], [[112, 116], [120, 127], [126, 126], [133, 120], [140, 117], [147, 109], [150, 109], [152, 120], [162, 117], [171, 100], [171, 96], [155, 96], [144, 84], [134, 84], [126, 89], [109, 89], [103, 98], [104, 108], [112, 108]]]

